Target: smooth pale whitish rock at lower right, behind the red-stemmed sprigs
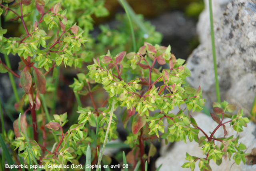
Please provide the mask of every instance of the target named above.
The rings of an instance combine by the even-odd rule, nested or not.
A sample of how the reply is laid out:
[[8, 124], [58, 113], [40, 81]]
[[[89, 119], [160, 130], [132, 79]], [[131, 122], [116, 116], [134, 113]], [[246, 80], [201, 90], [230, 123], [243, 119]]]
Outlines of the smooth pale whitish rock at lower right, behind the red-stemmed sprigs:
[[[198, 126], [202, 128], [208, 135], [210, 135], [209, 131], [212, 131], [216, 128], [218, 125], [216, 122], [212, 121], [212, 118], [203, 114], [198, 113], [195, 116], [193, 116], [194, 119], [197, 121]], [[228, 121], [226, 119], [225, 121]], [[225, 122], [224, 121], [224, 122]], [[211, 124], [209, 124], [211, 123]], [[228, 127], [228, 124], [226, 125], [226, 129], [228, 131], [228, 134], [226, 137], [229, 137], [231, 135], [234, 135], [234, 137], [237, 137], [240, 135], [239, 143], [242, 142], [246, 147], [248, 148], [245, 153], [251, 153], [252, 151], [256, 150], [256, 137], [255, 137], [255, 129], [256, 125], [252, 122], [247, 124], [247, 127], [244, 128], [244, 131], [241, 133], [236, 133], [234, 129]], [[220, 127], [218, 131], [214, 134], [216, 137], [223, 137], [223, 129]], [[204, 136], [201, 132], [199, 133], [199, 137]], [[202, 147], [198, 147], [198, 143], [195, 141], [192, 141], [191, 143], [187, 139], [187, 143], [184, 143], [183, 141], [179, 141], [178, 143], [174, 143], [171, 148], [168, 150], [168, 148], [164, 148], [164, 151], [161, 153], [161, 157], [159, 157], [156, 161], [156, 168], [159, 167], [161, 164], [161, 171], [189, 171], [190, 169], [184, 169], [181, 166], [188, 162], [186, 158], [186, 152], [189, 153], [192, 156], [197, 157], [206, 157], [206, 155], [203, 155], [202, 150], [200, 150]], [[254, 155], [254, 153], [253, 153]], [[255, 161], [255, 155], [254, 161]], [[220, 166], [216, 165], [213, 160], [210, 161], [210, 167], [212, 168], [212, 171], [255, 171], [256, 165], [244, 165], [242, 162], [240, 165], [236, 165], [235, 161], [231, 159], [229, 161], [227, 156], [223, 156], [222, 158], [222, 164]], [[196, 162], [196, 169], [195, 171], [199, 171], [198, 162]]]

